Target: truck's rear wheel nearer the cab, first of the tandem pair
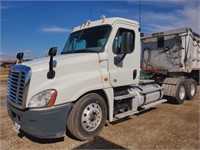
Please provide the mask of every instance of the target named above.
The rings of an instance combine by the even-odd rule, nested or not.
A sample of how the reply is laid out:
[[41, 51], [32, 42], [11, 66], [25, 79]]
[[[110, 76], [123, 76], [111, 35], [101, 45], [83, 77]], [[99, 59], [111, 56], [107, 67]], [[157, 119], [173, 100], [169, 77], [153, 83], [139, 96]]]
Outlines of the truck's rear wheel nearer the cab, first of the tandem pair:
[[186, 98], [184, 79], [180, 79], [175, 88], [175, 103], [183, 104]]

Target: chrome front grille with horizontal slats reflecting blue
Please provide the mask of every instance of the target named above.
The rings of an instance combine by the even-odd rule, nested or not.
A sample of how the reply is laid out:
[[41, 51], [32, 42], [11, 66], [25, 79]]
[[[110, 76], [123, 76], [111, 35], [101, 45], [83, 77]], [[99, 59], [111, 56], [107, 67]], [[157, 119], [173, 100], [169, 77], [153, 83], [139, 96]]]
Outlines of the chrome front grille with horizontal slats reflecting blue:
[[16, 65], [10, 68], [8, 75], [7, 100], [17, 108], [25, 108], [31, 69]]

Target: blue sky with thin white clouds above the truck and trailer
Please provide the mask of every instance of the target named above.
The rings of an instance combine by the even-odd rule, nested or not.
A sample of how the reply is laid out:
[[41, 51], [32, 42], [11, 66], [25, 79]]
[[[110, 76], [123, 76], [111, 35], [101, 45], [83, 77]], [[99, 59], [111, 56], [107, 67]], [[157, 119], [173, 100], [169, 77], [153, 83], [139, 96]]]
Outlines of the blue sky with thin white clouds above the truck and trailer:
[[[0, 60], [60, 53], [74, 26], [100, 16], [139, 19], [139, 0], [124, 1], [1, 1]], [[142, 32], [190, 27], [200, 33], [200, 0], [141, 0]]]

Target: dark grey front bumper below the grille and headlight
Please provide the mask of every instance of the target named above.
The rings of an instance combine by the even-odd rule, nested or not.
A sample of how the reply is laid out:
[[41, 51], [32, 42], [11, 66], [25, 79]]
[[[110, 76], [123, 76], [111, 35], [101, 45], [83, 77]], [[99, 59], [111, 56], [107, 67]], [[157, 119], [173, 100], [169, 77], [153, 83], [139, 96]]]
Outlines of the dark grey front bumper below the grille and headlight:
[[66, 121], [72, 103], [45, 109], [20, 110], [7, 103], [8, 114], [20, 130], [38, 138], [65, 136]]

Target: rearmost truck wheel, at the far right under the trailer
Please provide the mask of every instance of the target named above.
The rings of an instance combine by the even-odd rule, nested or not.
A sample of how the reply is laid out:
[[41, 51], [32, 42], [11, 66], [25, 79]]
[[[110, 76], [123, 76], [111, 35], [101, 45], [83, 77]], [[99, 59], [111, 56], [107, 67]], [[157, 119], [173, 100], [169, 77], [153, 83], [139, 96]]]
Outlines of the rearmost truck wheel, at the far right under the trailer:
[[188, 100], [192, 100], [197, 91], [197, 83], [193, 79], [186, 79], [185, 89], [186, 89], [186, 97]]

